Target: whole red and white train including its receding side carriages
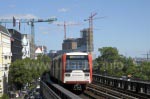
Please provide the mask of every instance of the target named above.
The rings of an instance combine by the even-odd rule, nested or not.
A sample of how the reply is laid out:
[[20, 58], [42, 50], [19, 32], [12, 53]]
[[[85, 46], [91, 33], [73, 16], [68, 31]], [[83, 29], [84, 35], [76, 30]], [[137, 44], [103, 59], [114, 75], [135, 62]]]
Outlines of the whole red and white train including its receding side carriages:
[[73, 90], [84, 90], [92, 82], [92, 55], [84, 52], [70, 52], [52, 59], [52, 79]]

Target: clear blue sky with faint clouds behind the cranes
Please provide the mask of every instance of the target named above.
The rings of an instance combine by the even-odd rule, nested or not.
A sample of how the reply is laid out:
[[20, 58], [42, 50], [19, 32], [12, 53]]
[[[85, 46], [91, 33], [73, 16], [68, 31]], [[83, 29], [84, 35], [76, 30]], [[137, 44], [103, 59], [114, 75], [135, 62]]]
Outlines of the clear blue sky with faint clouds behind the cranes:
[[[80, 30], [89, 27], [91, 13], [97, 13], [94, 25], [94, 53], [98, 48], [116, 47], [120, 54], [145, 57], [150, 53], [150, 0], [0, 0], [0, 19], [48, 19], [53, 23], [35, 23], [35, 42], [49, 50], [61, 50], [65, 21], [67, 38], [79, 38]], [[101, 18], [100, 18], [101, 17]], [[18, 29], [12, 24], [2, 24]], [[18, 30], [19, 31], [19, 30]], [[21, 33], [30, 34], [31, 28], [21, 24]]]

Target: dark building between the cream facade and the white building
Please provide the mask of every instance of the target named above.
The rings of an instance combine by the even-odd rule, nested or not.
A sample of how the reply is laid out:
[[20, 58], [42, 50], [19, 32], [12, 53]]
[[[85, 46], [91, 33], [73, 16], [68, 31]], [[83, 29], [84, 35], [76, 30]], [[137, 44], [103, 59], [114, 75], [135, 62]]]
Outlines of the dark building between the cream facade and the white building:
[[8, 29], [11, 35], [11, 51], [12, 51], [12, 62], [16, 59], [22, 59], [22, 42], [21, 42], [21, 33], [14, 30]]

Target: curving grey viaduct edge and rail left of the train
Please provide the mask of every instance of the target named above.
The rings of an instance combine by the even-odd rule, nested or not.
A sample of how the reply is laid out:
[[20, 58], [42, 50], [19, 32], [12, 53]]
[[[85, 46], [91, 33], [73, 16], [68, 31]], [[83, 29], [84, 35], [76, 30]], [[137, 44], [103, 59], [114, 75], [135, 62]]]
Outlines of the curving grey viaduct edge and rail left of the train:
[[53, 83], [48, 74], [43, 75], [40, 88], [44, 99], [82, 99], [59, 84]]

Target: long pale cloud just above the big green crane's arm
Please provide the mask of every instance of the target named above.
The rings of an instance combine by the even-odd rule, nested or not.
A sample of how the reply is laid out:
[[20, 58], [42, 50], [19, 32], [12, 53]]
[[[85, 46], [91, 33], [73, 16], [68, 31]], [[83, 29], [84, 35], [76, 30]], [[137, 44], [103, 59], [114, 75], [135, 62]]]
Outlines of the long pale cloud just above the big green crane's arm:
[[38, 19], [38, 17], [33, 14], [10, 14], [10, 15], [0, 16], [0, 19], [12, 19], [13, 16], [16, 19]]

